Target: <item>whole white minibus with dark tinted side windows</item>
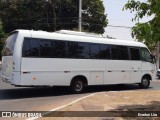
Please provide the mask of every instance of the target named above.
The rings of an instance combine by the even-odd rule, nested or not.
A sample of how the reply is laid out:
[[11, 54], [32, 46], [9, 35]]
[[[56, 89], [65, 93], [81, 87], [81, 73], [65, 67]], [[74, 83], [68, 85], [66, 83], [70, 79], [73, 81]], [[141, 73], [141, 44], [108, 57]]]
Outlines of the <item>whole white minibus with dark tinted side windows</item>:
[[15, 86], [139, 84], [155, 79], [155, 62], [146, 45], [83, 32], [15, 30], [2, 52], [2, 80]]

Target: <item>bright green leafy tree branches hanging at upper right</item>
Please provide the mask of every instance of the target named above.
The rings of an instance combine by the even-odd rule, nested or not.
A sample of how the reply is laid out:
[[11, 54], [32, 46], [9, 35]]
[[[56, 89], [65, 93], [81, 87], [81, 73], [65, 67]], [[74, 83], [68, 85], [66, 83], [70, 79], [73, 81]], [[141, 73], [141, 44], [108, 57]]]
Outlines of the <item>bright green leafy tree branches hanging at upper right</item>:
[[[138, 23], [132, 28], [132, 36], [145, 42], [150, 49], [155, 49], [157, 42], [160, 40], [159, 6], [159, 0], [147, 0], [146, 2], [129, 0], [124, 6], [124, 9], [136, 12], [132, 20], [138, 21]], [[145, 23], [139, 23], [139, 19], [145, 16], [152, 16], [153, 19]]]

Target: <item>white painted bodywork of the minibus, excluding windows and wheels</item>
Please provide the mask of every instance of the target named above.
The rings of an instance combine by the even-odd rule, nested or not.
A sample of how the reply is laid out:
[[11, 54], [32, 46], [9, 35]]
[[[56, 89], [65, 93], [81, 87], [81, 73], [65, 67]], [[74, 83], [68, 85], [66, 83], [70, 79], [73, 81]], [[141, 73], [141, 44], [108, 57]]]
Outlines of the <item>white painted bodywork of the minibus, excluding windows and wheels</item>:
[[[140, 83], [145, 74], [154, 70], [154, 64], [142, 60], [99, 60], [68, 58], [28, 58], [22, 57], [24, 37], [58, 41], [88, 42], [96, 44], [123, 45], [143, 47], [136, 41], [113, 40], [102, 37], [87, 36], [82, 32], [45, 32], [17, 30], [13, 56], [2, 57], [2, 79], [20, 86], [70, 86], [71, 80], [78, 75], [87, 79], [88, 85]], [[63, 32], [63, 33], [62, 33]], [[65, 32], [65, 33], [64, 33]], [[6, 78], [7, 60], [12, 59], [13, 71]], [[14, 64], [13, 64], [14, 63]], [[142, 67], [143, 66], [143, 67]], [[67, 72], [66, 72], [67, 71]]]

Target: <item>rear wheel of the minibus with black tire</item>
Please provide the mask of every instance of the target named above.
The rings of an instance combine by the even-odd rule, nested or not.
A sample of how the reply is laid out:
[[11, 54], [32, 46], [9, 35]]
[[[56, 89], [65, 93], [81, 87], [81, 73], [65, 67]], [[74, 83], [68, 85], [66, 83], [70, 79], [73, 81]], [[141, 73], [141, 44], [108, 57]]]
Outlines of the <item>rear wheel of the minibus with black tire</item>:
[[80, 77], [75, 78], [71, 83], [71, 91], [75, 94], [82, 93], [85, 89], [84, 80]]

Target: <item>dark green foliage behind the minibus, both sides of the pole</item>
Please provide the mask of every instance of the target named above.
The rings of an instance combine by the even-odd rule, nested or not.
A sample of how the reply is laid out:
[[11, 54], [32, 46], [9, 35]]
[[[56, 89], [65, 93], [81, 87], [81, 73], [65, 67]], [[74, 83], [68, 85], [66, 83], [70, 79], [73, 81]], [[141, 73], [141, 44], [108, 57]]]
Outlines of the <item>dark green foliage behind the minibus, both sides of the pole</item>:
[[[83, 0], [83, 29], [103, 33], [107, 26], [101, 0]], [[0, 0], [5, 32], [15, 29], [55, 31], [78, 27], [79, 0]]]

